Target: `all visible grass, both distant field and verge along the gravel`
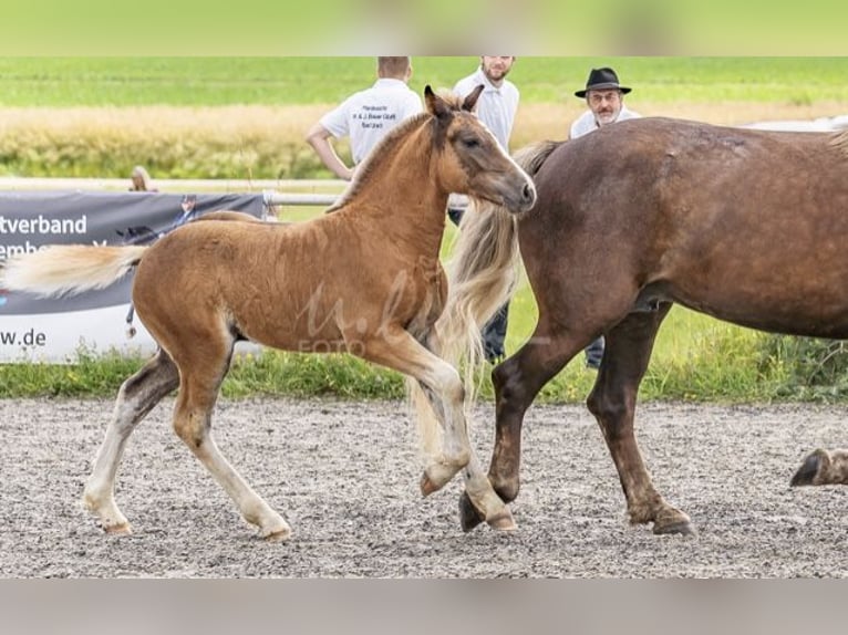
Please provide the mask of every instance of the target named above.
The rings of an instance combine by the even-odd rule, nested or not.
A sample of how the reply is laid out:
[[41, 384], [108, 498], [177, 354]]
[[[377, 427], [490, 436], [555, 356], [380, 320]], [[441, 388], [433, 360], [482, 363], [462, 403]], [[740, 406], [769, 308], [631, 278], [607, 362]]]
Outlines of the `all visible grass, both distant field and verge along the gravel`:
[[[452, 86], [477, 59], [415, 58], [413, 64], [411, 85], [421, 91], [425, 83]], [[848, 112], [848, 58], [521, 58], [510, 75], [521, 90], [514, 147], [562, 138], [583, 107], [573, 91], [589, 67], [603, 64], [633, 86], [628, 104], [645, 115], [737, 124]], [[0, 59], [0, 175], [121, 178], [142, 163], [154, 178], [329, 176], [302, 135], [373, 77], [373, 58]], [[321, 211], [292, 208], [282, 216], [302, 220]], [[510, 316], [514, 352], [536, 320], [527, 287]], [[838, 369], [823, 373], [816, 345], [790, 342], [675, 308], [642, 397], [841, 398]], [[825, 348], [824, 357], [840, 353]], [[82, 354], [74, 366], [4, 366], [0, 396], [111, 394], [137, 364]], [[541, 398], [581, 400], [593, 377], [578, 357]], [[402, 384], [347, 356], [273, 353], [238, 361], [225, 386], [230, 396], [256, 392], [384, 397], [400, 396]]]

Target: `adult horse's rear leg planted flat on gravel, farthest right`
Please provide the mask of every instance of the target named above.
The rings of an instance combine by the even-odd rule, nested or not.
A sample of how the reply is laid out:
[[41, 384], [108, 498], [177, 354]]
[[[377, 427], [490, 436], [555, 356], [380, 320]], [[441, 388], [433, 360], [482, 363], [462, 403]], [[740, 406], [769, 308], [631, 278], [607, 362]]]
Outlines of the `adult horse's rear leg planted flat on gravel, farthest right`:
[[690, 518], [654, 489], [633, 435], [639, 384], [648, 369], [656, 331], [670, 309], [665, 303], [655, 312], [631, 313], [609, 332], [587, 405], [598, 419], [619, 472], [630, 522], [653, 522], [654, 533], [694, 533]]

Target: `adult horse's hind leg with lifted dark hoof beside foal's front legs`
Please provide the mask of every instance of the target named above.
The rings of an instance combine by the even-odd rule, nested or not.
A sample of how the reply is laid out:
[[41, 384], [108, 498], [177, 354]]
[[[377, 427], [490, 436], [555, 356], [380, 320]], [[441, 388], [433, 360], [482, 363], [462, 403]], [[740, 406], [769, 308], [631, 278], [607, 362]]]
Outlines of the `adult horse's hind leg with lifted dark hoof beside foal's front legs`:
[[[591, 334], [556, 329], [549, 335], [540, 321], [530, 340], [515, 355], [492, 372], [495, 387], [495, 447], [492, 451], [488, 480], [495, 492], [509, 503], [518, 496], [521, 462], [521, 426], [524, 414], [539, 391], [591, 341]], [[483, 519], [468, 497], [459, 498], [459, 521], [470, 531]]]

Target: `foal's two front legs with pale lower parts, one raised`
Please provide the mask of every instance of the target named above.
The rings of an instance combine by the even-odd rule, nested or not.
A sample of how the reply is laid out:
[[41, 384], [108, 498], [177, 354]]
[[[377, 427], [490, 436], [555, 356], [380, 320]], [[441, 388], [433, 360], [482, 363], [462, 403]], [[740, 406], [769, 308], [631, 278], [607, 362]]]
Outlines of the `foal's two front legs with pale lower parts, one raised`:
[[472, 504], [496, 529], [514, 529], [509, 508], [495, 493], [470, 447], [463, 403], [465, 388], [456, 368], [423, 346], [401, 327], [387, 327], [360, 352], [370, 362], [387, 366], [420, 382], [433, 410], [444, 424], [442, 454], [427, 457], [421, 491], [428, 496], [461, 469]]

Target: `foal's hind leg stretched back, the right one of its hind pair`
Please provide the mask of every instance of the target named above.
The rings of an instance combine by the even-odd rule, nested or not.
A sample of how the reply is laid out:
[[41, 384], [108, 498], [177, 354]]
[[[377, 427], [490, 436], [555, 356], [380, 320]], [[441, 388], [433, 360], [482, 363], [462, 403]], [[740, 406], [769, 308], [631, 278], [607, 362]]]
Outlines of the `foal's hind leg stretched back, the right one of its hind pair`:
[[236, 502], [242, 518], [259, 528], [262, 538], [287, 540], [291, 529], [227, 461], [211, 436], [211, 413], [229, 369], [235, 341], [214, 340], [209, 333], [187, 340], [179, 354], [179, 394], [174, 407], [174, 431]]

